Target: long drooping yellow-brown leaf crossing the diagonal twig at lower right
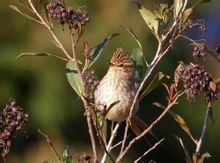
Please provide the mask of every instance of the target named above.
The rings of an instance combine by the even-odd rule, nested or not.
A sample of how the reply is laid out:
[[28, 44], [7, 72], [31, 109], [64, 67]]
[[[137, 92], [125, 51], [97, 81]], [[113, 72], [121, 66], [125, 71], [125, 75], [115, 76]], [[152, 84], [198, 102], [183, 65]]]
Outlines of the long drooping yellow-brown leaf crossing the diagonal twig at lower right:
[[[162, 104], [160, 104], [159, 102], [154, 102], [152, 103], [152, 105], [161, 108], [161, 109], [166, 109], [166, 107]], [[173, 117], [173, 119], [177, 122], [177, 124], [180, 126], [180, 128], [187, 134], [189, 135], [189, 137], [192, 139], [192, 141], [197, 144], [197, 140], [194, 139], [194, 137], [192, 136], [192, 133], [188, 127], [188, 125], [186, 124], [185, 120], [178, 115], [177, 113], [173, 112], [172, 110], [168, 110], [168, 113]]]

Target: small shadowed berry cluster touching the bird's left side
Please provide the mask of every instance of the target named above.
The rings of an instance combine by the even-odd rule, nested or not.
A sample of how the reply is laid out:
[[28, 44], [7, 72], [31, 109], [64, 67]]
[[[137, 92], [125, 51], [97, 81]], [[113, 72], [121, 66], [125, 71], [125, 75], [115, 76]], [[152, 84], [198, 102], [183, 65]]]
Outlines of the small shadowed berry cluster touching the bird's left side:
[[85, 89], [88, 95], [88, 99], [93, 101], [94, 100], [94, 91], [96, 87], [99, 85], [99, 80], [95, 76], [94, 71], [85, 71], [83, 73], [83, 81], [85, 85]]

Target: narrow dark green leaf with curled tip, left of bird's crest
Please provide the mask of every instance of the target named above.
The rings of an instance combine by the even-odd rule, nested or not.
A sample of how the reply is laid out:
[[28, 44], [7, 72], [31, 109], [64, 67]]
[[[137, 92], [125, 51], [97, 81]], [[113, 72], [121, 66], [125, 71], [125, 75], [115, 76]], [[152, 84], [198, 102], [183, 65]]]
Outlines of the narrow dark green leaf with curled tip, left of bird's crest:
[[89, 56], [85, 60], [83, 71], [89, 69], [97, 61], [109, 40], [118, 35], [118, 33], [115, 33], [106, 37], [104, 40], [102, 40], [102, 42], [100, 42], [94, 48], [91, 49]]

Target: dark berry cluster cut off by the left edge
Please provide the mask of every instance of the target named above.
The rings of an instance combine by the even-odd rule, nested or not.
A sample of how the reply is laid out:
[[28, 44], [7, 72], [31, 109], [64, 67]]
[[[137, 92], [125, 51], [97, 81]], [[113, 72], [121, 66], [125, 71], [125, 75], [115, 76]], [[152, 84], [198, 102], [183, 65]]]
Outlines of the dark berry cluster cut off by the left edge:
[[0, 112], [0, 147], [2, 157], [9, 153], [11, 138], [27, 122], [28, 115], [24, 114], [14, 99], [10, 100], [5, 109]]

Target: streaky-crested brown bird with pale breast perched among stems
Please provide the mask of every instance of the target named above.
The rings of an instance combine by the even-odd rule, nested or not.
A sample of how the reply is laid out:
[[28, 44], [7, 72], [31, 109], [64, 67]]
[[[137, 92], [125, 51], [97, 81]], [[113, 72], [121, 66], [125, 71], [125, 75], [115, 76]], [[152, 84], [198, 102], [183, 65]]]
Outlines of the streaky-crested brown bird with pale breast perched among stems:
[[[106, 118], [122, 122], [127, 119], [136, 94], [134, 81], [135, 65], [122, 49], [113, 53], [109, 69], [94, 92], [95, 105], [98, 110], [106, 110]], [[135, 134], [140, 134], [147, 125], [135, 113], [139, 102], [133, 108], [130, 125]]]

